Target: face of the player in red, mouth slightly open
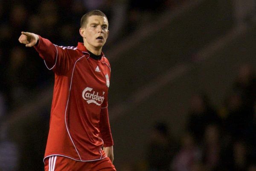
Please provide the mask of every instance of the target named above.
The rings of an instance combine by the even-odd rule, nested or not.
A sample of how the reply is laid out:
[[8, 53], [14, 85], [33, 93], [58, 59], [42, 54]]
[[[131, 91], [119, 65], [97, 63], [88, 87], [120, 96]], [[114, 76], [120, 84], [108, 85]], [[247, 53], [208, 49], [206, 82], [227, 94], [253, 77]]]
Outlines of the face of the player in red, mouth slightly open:
[[108, 20], [106, 17], [93, 15], [87, 18], [87, 25], [80, 29], [84, 46], [90, 49], [102, 49], [108, 38]]

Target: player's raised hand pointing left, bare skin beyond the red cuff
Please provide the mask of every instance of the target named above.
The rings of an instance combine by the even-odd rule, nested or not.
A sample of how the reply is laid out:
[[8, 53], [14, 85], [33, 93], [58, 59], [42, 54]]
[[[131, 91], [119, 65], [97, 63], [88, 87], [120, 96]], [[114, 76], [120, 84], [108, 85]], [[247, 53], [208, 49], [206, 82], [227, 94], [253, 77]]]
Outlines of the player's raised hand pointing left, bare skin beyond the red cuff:
[[34, 46], [39, 40], [39, 36], [30, 32], [21, 32], [19, 42], [26, 45], [26, 47]]

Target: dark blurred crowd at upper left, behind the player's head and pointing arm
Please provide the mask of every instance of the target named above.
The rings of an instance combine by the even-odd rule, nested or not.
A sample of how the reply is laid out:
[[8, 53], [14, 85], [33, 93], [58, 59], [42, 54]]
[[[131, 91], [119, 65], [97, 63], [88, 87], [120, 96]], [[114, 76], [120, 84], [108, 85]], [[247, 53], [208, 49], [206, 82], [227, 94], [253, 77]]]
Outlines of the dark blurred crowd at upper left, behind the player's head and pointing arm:
[[21, 31], [34, 32], [60, 46], [76, 46], [81, 17], [100, 9], [109, 20], [110, 36], [104, 48], [113, 46], [138, 26], [177, 0], [0, 0], [0, 113], [23, 103], [24, 98], [52, 83], [52, 74], [33, 48], [17, 40]]

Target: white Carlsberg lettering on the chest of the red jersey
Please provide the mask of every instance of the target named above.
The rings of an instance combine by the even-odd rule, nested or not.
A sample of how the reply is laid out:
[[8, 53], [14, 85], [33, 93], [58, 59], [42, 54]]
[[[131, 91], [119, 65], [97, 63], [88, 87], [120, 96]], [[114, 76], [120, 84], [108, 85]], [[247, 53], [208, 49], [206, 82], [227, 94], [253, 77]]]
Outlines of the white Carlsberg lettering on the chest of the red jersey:
[[[103, 95], [105, 92], [103, 92]], [[104, 96], [99, 96], [99, 92], [93, 91], [92, 88], [86, 87], [82, 93], [83, 99], [87, 101], [88, 104], [94, 103], [100, 106], [105, 99]]]

